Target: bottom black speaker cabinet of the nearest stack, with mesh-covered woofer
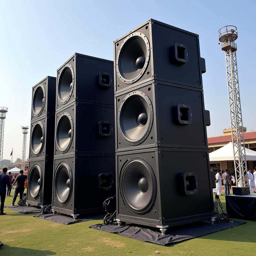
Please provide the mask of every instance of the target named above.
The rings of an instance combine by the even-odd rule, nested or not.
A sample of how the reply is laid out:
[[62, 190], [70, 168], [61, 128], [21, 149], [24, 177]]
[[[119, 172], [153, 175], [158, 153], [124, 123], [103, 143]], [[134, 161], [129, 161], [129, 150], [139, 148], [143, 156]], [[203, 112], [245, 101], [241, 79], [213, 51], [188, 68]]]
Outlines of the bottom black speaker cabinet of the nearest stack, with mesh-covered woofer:
[[116, 153], [116, 220], [161, 228], [208, 220], [208, 150], [151, 148]]

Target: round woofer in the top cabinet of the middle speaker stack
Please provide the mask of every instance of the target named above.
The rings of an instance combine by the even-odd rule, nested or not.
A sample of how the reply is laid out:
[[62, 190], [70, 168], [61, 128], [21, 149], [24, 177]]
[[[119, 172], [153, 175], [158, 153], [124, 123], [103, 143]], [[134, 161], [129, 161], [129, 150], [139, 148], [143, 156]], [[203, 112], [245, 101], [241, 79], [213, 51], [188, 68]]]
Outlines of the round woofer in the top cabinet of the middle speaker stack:
[[70, 64], [66, 64], [58, 72], [57, 95], [61, 104], [66, 104], [70, 99], [74, 87], [74, 70]]

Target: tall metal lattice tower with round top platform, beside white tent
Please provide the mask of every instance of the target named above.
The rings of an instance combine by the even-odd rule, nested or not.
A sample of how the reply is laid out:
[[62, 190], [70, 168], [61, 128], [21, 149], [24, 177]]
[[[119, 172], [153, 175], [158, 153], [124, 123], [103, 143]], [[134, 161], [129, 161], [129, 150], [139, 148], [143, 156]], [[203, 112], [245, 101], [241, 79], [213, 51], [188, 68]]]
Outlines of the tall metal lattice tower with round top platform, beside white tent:
[[[225, 26], [219, 30], [221, 50], [225, 51], [228, 97], [230, 109], [231, 134], [233, 143], [234, 167], [237, 186], [245, 187], [247, 175], [246, 153], [244, 146], [243, 121], [237, 71], [237, 27]], [[248, 185], [248, 184], [247, 184]]]

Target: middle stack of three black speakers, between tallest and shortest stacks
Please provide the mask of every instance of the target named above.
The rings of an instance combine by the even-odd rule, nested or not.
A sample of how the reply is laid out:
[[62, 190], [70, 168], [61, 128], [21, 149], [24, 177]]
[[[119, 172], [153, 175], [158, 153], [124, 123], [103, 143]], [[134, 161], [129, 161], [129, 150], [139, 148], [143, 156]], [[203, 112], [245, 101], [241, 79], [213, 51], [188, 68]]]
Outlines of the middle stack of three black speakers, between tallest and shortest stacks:
[[113, 61], [78, 53], [57, 69], [54, 213], [102, 213], [115, 193], [112, 78]]

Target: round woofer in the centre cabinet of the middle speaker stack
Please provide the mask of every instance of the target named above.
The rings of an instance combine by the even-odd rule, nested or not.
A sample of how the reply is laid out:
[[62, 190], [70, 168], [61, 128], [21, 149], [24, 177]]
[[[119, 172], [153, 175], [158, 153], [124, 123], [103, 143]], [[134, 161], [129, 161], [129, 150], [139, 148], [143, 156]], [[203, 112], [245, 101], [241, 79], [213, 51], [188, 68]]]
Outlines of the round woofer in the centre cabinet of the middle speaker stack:
[[63, 113], [57, 121], [56, 143], [61, 153], [66, 153], [73, 140], [73, 121], [68, 112]]

